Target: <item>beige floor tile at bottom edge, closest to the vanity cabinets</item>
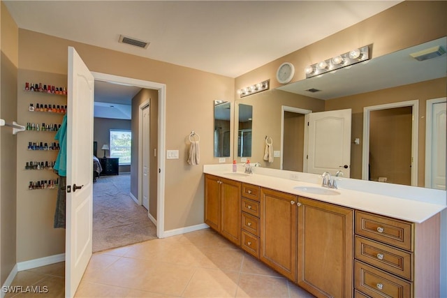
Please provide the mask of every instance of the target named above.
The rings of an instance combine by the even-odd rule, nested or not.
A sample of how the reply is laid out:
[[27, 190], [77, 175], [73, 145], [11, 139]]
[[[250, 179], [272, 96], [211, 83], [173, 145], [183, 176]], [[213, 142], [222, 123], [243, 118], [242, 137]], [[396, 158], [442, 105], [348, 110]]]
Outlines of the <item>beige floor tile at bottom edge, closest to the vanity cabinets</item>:
[[242, 273], [236, 297], [288, 297], [287, 280], [286, 278]]

